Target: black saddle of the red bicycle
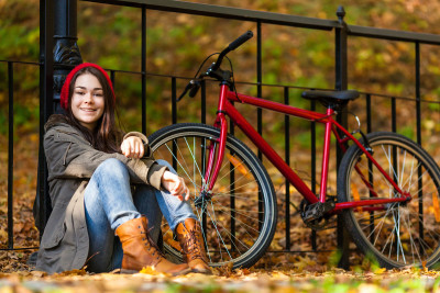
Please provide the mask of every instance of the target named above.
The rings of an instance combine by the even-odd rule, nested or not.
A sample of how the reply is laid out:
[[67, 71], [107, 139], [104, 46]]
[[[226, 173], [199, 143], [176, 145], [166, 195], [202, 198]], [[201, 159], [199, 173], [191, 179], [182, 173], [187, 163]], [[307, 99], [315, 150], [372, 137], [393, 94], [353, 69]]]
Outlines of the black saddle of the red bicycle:
[[351, 100], [359, 98], [359, 91], [344, 90], [344, 91], [304, 91], [302, 98], [308, 100], [318, 100], [323, 105], [344, 105]]

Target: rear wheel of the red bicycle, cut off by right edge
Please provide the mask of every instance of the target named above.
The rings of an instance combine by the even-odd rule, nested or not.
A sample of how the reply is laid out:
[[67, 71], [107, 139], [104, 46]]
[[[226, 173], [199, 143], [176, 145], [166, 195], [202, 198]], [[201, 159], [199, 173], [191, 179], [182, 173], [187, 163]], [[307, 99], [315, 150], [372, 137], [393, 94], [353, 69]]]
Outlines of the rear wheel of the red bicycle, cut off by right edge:
[[[411, 200], [344, 210], [348, 230], [382, 267], [433, 267], [440, 241], [439, 168], [419, 145], [402, 135], [366, 137], [374, 159]], [[348, 149], [339, 168], [338, 202], [400, 196], [356, 145]]]

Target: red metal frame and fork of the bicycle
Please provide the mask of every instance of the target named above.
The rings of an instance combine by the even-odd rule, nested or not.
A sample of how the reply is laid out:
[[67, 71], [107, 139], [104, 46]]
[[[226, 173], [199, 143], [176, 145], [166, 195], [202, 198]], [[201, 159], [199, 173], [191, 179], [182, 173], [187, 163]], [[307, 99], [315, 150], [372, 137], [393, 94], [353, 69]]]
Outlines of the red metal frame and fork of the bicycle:
[[[240, 112], [233, 106], [232, 102], [240, 102], [243, 104], [250, 104], [262, 109], [272, 110], [275, 112], [284, 113], [287, 115], [315, 121], [324, 124], [324, 142], [323, 142], [323, 154], [322, 154], [322, 172], [320, 182], [320, 193], [319, 198], [307, 187], [307, 184], [298, 177], [298, 174], [283, 160], [283, 158], [268, 145], [268, 143], [255, 131], [255, 128], [240, 114]], [[314, 111], [308, 111], [304, 109], [298, 109], [295, 106], [258, 99], [255, 97], [250, 97], [241, 93], [235, 93], [229, 89], [227, 83], [220, 86], [220, 97], [218, 104], [217, 119], [215, 126], [220, 128], [219, 137], [219, 148], [216, 157], [216, 148], [211, 149], [211, 154], [208, 159], [208, 168], [205, 176], [206, 182], [209, 182], [208, 191], [212, 190], [216, 183], [217, 176], [220, 170], [221, 161], [224, 157], [224, 146], [228, 134], [228, 122], [226, 116], [237, 125], [254, 144], [258, 149], [267, 157], [267, 159], [287, 178], [287, 180], [298, 190], [300, 194], [311, 204], [326, 202], [327, 193], [327, 180], [328, 180], [328, 167], [330, 157], [330, 142], [331, 133], [334, 134], [338, 145], [343, 151], [345, 151], [345, 143], [352, 140], [359, 146], [359, 148], [366, 155], [366, 157], [375, 165], [375, 167], [382, 172], [384, 178], [394, 187], [395, 191], [400, 194], [400, 196], [392, 199], [372, 199], [353, 201], [353, 202], [342, 202], [336, 203], [334, 209], [331, 212], [336, 212], [343, 209], [352, 209], [358, 206], [371, 206], [363, 207], [364, 210], [371, 209], [376, 210], [372, 205], [383, 205], [387, 203], [405, 202], [411, 199], [410, 194], [407, 194], [400, 190], [400, 188], [394, 182], [394, 180], [384, 171], [384, 169], [376, 162], [372, 155], [365, 149], [365, 147], [342, 125], [333, 120], [334, 111], [331, 108], [327, 109], [326, 114], [318, 113]], [[341, 137], [338, 133], [340, 131], [344, 137]], [[217, 158], [217, 160], [216, 160]], [[210, 180], [209, 180], [210, 178]], [[365, 183], [367, 184], [366, 180]], [[373, 193], [374, 195], [374, 193]]]

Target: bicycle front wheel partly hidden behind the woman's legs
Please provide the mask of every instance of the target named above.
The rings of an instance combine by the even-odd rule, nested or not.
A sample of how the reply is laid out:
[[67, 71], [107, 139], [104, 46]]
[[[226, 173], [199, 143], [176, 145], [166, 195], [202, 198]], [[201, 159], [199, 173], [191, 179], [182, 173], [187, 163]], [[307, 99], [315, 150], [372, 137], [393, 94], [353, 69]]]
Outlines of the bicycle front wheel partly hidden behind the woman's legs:
[[[251, 267], [270, 246], [276, 227], [272, 181], [255, 155], [228, 135], [226, 154], [212, 194], [201, 194], [209, 149], [220, 132], [204, 124], [175, 124], [148, 137], [155, 159], [173, 165], [191, 192], [190, 204], [202, 227], [210, 266]], [[165, 222], [165, 221], [164, 221]], [[164, 249], [182, 260], [180, 247], [163, 225]]]

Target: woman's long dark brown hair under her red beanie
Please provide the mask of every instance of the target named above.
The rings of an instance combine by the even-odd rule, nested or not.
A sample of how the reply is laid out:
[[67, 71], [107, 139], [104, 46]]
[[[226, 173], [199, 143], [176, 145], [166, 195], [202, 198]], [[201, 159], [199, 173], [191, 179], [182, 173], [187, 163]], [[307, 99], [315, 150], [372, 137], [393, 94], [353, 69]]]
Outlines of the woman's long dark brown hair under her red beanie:
[[[101, 83], [105, 97], [103, 114], [99, 119], [97, 126], [94, 131], [82, 126], [72, 112], [72, 95], [74, 94], [75, 82], [81, 75], [94, 75], [99, 83]], [[120, 153], [120, 144], [122, 140], [122, 133], [116, 126], [116, 99], [114, 92], [109, 84], [107, 78], [95, 67], [85, 67], [78, 70], [72, 78], [68, 90], [68, 106], [66, 109], [67, 121], [70, 125], [78, 128], [86, 139], [98, 150], [105, 153]]]

